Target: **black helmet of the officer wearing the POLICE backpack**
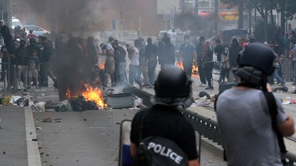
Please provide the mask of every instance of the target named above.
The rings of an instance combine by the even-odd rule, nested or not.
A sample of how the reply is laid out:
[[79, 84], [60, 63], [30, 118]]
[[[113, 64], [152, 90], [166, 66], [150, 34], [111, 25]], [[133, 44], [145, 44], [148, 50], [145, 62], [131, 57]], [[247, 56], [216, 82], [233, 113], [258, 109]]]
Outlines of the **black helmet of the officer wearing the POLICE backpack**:
[[192, 92], [192, 81], [184, 70], [177, 66], [166, 66], [158, 74], [154, 89], [158, 98], [188, 98]]

